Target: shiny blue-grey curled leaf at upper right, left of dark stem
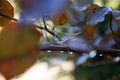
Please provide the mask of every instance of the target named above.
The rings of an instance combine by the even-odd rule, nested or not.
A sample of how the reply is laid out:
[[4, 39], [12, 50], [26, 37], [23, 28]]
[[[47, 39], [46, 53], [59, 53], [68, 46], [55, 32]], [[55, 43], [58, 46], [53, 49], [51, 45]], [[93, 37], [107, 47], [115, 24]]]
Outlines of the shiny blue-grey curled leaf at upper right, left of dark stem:
[[87, 19], [87, 25], [96, 25], [104, 21], [105, 16], [111, 12], [112, 9], [109, 7], [101, 7], [96, 9], [94, 12], [91, 12]]

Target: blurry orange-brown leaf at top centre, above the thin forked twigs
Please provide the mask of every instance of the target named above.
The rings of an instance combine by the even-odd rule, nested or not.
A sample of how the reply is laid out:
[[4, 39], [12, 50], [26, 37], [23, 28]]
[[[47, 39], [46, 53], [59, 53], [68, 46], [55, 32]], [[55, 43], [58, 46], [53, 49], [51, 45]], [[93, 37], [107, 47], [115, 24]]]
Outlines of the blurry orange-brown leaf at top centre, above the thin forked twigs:
[[51, 16], [51, 19], [55, 25], [62, 25], [68, 22], [68, 17], [65, 11], [54, 13]]

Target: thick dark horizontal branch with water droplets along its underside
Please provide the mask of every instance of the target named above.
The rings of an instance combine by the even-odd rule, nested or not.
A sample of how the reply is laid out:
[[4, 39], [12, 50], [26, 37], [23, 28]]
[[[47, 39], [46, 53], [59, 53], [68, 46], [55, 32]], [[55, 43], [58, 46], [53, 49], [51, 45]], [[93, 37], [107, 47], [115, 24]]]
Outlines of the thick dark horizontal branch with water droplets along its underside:
[[[68, 46], [56, 46], [56, 45], [40, 45], [40, 51], [65, 51], [65, 52], [73, 52], [77, 54], [82, 53], [89, 53], [90, 50], [80, 50], [80, 49], [73, 49]], [[120, 50], [117, 49], [95, 49], [97, 54], [104, 54], [104, 55], [112, 55], [112, 56], [120, 56]]]

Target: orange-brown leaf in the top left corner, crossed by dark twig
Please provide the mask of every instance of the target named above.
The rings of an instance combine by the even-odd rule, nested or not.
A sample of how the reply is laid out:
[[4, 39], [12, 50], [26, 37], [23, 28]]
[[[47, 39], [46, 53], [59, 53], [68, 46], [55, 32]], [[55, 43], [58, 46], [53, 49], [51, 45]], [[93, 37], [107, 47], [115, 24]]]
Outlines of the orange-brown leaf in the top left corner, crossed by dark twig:
[[[7, 0], [0, 1], [0, 11], [1, 11], [1, 14], [5, 14], [10, 17], [14, 16], [14, 8]], [[10, 19], [0, 16], [0, 26], [4, 27], [10, 21], [11, 21]]]

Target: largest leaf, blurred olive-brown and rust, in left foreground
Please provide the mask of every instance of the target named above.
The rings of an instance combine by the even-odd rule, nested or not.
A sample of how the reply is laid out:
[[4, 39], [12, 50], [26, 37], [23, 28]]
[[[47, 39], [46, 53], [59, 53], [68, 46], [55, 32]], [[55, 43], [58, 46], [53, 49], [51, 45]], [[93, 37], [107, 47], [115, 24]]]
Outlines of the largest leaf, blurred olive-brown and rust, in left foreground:
[[10, 22], [0, 33], [0, 72], [9, 80], [23, 73], [37, 59], [41, 33], [34, 25]]

